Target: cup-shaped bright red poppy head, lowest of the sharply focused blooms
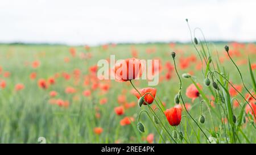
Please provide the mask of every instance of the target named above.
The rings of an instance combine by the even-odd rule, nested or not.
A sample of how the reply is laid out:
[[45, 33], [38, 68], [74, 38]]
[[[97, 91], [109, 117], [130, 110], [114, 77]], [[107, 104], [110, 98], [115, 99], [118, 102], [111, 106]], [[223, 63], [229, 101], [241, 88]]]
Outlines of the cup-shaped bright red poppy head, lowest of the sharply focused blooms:
[[164, 111], [164, 114], [166, 115], [166, 118], [170, 125], [177, 126], [180, 124], [181, 120], [181, 110], [180, 108], [170, 108]]

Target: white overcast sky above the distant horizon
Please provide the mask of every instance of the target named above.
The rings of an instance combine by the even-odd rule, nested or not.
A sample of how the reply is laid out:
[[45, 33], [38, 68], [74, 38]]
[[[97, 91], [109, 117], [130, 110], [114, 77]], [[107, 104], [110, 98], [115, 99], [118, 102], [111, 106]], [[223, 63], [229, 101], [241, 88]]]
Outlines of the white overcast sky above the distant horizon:
[[255, 0], [1, 0], [0, 42], [189, 41], [185, 18], [207, 40], [255, 41], [255, 17]]

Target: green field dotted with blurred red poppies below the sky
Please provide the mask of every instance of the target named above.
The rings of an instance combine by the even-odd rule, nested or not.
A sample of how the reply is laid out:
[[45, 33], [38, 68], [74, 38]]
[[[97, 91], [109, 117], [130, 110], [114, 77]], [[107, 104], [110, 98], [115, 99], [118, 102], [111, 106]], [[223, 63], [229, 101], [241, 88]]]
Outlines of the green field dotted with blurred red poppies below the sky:
[[[256, 91], [253, 83], [253, 74], [256, 76], [256, 45], [228, 44], [230, 56], [240, 69], [246, 88], [242, 85], [236, 66], [225, 52], [225, 45], [196, 45], [203, 57], [204, 74], [200, 69], [200, 57], [192, 44], [111, 44], [90, 49], [64, 45], [0, 45], [0, 84], [3, 81], [6, 83], [6, 86], [0, 87], [0, 143], [39, 143], [39, 137], [44, 137], [46, 143], [209, 143], [207, 139], [212, 143], [256, 143], [254, 113], [252, 110], [245, 110], [248, 106], [242, 98], [248, 93], [246, 88], [251, 94]], [[73, 55], [71, 48], [75, 51]], [[156, 124], [150, 120], [153, 116], [150, 108], [138, 106], [138, 99], [131, 93], [133, 86], [129, 81], [116, 82], [90, 77], [91, 67], [97, 65], [99, 60], [108, 60], [110, 55], [115, 55], [116, 60], [134, 56], [145, 60], [157, 58], [162, 66], [159, 84], [148, 86], [148, 82], [142, 79], [133, 80], [133, 83], [137, 88], [157, 89], [156, 100], [150, 106], [155, 108], [158, 102], [159, 108], [165, 111], [176, 105], [174, 98], [179, 92], [179, 78], [171, 56], [173, 51], [176, 52], [179, 75], [192, 74], [192, 78], [181, 78], [181, 95], [184, 103], [191, 105], [189, 114], [206, 136], [184, 108], [181, 123], [176, 127], [171, 126], [161, 110], [156, 109], [156, 115], [162, 122]], [[205, 86], [205, 73], [209, 71], [205, 61], [209, 62], [209, 55], [212, 59], [209, 69], [218, 71], [232, 84], [240, 86], [242, 97], [236, 93], [230, 96], [231, 86], [218, 74], [214, 74], [213, 78], [220, 82], [217, 82], [220, 91], [213, 88], [211, 76], [210, 86]], [[37, 62], [39, 65], [33, 67]], [[168, 63], [172, 66], [170, 71], [167, 69]], [[167, 72], [170, 74], [167, 75]], [[34, 79], [31, 79], [31, 73], [36, 74]], [[53, 85], [49, 85], [49, 78], [55, 80]], [[46, 89], [38, 85], [39, 79], [46, 79]], [[200, 83], [203, 91], [192, 101], [185, 94], [193, 81]], [[16, 90], [18, 83], [24, 86], [19, 91]], [[91, 94], [85, 96], [85, 90]], [[56, 97], [49, 95], [51, 91], [57, 92]], [[120, 101], [121, 97], [126, 99]], [[212, 97], [215, 99], [209, 102]], [[237, 98], [241, 106], [234, 107], [233, 98]], [[201, 100], [206, 101], [201, 104], [204, 124], [199, 122]], [[162, 106], [161, 102], [166, 106]], [[255, 100], [251, 99], [249, 102], [252, 109], [256, 109]], [[210, 106], [210, 103], [214, 106]], [[181, 100], [179, 104], [183, 104]], [[118, 106], [125, 108], [123, 115], [115, 114], [114, 108]], [[150, 115], [150, 118], [146, 113], [141, 115], [143, 133], [137, 129], [138, 115], [142, 110], [148, 111]], [[236, 116], [235, 123], [231, 121], [233, 114]], [[121, 125], [120, 121], [126, 116], [134, 121]], [[223, 118], [227, 119], [225, 123], [221, 121]], [[96, 127], [103, 129], [100, 134], [95, 132]], [[178, 133], [177, 139], [173, 135], [174, 131]], [[180, 132], [183, 133], [182, 140]], [[154, 140], [151, 133], [154, 134]]]

